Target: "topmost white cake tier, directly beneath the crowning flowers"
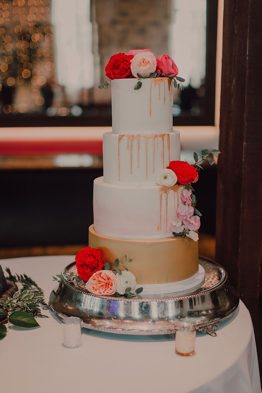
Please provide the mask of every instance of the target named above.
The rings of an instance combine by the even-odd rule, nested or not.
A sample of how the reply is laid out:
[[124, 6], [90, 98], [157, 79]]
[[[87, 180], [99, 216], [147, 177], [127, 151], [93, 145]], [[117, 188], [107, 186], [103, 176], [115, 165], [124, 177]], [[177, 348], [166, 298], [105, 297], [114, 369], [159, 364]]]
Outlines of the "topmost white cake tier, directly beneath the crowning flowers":
[[116, 134], [166, 134], [172, 131], [173, 87], [170, 78], [112, 80], [112, 131]]

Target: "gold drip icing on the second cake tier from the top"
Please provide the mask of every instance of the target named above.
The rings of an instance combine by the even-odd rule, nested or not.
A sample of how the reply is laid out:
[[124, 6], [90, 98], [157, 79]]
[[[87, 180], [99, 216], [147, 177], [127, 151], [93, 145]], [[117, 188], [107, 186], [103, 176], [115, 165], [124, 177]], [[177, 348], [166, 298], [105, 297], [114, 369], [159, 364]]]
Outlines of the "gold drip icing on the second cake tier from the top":
[[[161, 78], [159, 78], [161, 79]], [[168, 134], [148, 134], [148, 135], [119, 135], [118, 136], [118, 180], [120, 181], [120, 142], [124, 138], [127, 137], [127, 150], [129, 150], [130, 145], [130, 173], [132, 174], [132, 165], [133, 165], [133, 142], [137, 140], [137, 168], [139, 168], [139, 149], [140, 149], [140, 138], [145, 138], [145, 154], [146, 154], [146, 180], [148, 175], [148, 141], [150, 138], [153, 138], [153, 173], [155, 173], [155, 147], [157, 140], [157, 149], [158, 149], [158, 138], [162, 140], [162, 157], [163, 157], [163, 169], [165, 165], [165, 136], [167, 136], [167, 151], [168, 151], [168, 162], [170, 162], [170, 141], [169, 141], [169, 133]]]

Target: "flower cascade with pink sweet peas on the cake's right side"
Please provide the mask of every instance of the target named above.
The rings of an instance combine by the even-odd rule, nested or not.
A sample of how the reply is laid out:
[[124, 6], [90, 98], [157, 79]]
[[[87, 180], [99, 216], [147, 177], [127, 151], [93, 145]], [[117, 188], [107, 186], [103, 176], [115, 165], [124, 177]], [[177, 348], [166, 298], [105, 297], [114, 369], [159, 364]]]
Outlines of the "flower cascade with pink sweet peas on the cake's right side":
[[201, 154], [201, 157], [198, 157], [198, 154], [194, 152], [194, 165], [185, 161], [171, 161], [169, 166], [162, 169], [156, 176], [156, 182], [159, 185], [172, 187], [175, 184], [181, 184], [184, 186], [176, 210], [177, 218], [171, 221], [173, 235], [180, 236], [184, 240], [189, 237], [198, 241], [196, 231], [200, 228], [200, 217], [202, 216], [196, 209], [196, 196], [192, 193], [194, 189], [191, 184], [198, 180], [198, 173], [203, 169], [200, 163], [207, 161], [210, 165], [213, 165], [214, 159], [209, 155], [213, 154], [217, 158], [220, 151], [217, 149], [212, 151], [203, 149]]

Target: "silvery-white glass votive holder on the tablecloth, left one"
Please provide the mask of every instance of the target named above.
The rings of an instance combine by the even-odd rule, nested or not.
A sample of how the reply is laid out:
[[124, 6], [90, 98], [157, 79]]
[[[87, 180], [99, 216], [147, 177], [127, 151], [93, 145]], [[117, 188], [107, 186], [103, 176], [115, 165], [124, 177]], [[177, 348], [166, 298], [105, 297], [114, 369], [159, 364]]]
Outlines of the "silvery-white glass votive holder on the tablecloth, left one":
[[82, 345], [82, 320], [78, 317], [66, 317], [62, 320], [63, 345], [76, 348]]

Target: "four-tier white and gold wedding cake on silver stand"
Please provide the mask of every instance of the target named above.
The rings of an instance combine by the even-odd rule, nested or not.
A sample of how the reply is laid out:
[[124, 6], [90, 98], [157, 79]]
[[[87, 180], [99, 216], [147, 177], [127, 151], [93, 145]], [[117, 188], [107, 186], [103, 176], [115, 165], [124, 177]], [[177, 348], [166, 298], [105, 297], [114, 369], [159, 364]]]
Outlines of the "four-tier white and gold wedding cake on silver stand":
[[132, 258], [130, 270], [146, 293], [170, 293], [202, 283], [204, 274], [198, 242], [173, 235], [185, 186], [159, 185], [161, 171], [180, 160], [173, 81], [141, 80], [136, 90], [134, 78], [112, 80], [112, 132], [103, 136], [104, 176], [94, 181], [89, 246], [111, 266], [116, 258]]

